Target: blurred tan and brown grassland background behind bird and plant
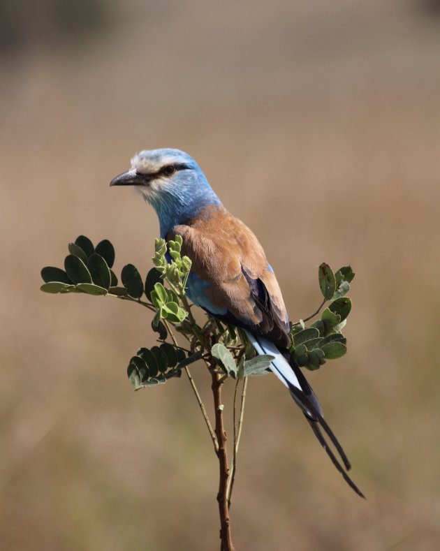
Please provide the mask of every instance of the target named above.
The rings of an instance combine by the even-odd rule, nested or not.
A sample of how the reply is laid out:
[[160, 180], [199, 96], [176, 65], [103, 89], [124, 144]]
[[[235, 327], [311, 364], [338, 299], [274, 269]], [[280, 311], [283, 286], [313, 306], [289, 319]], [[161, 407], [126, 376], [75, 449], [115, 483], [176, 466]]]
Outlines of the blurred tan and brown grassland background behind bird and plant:
[[149, 313], [39, 291], [81, 233], [147, 272], [156, 216], [108, 183], [156, 147], [253, 228], [293, 320], [321, 262], [357, 274], [349, 353], [309, 380], [367, 501], [251, 379], [237, 551], [440, 548], [439, 61], [438, 0], [0, 1], [2, 550], [219, 548], [188, 381], [126, 376]]

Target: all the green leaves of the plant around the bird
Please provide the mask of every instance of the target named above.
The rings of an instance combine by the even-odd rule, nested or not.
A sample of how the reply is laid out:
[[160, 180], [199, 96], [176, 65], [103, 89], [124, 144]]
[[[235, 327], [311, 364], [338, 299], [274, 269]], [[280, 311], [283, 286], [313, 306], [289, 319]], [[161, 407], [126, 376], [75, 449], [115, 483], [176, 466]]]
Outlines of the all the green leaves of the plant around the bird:
[[[133, 264], [122, 268], [122, 286], [112, 267], [115, 249], [109, 240], [94, 247], [91, 240], [80, 235], [68, 244], [65, 270], [47, 266], [41, 270], [45, 293], [85, 293], [107, 295], [136, 302], [152, 312], [152, 329], [158, 344], [142, 347], [131, 358], [127, 373], [135, 389], [166, 383], [179, 377], [182, 369], [198, 360], [219, 369], [222, 378], [243, 379], [270, 373], [271, 355], [256, 355], [246, 334], [233, 325], [209, 318], [203, 327], [196, 323], [186, 298], [186, 281], [191, 260], [182, 256], [182, 237], [174, 241], [155, 240], [154, 267], [142, 279]], [[346, 353], [346, 338], [342, 328], [351, 311], [351, 300], [346, 297], [354, 272], [345, 266], [333, 272], [328, 264], [318, 268], [318, 284], [323, 304], [321, 316], [310, 325], [300, 320], [291, 325], [290, 353], [301, 367], [318, 369], [326, 360], [340, 358]], [[325, 306], [325, 303], [328, 305]], [[310, 316], [307, 320], [314, 316]], [[189, 348], [177, 344], [172, 328], [189, 343]]]

